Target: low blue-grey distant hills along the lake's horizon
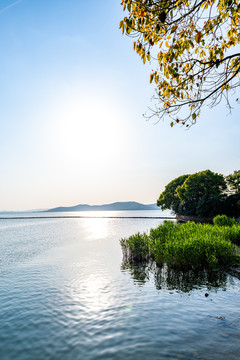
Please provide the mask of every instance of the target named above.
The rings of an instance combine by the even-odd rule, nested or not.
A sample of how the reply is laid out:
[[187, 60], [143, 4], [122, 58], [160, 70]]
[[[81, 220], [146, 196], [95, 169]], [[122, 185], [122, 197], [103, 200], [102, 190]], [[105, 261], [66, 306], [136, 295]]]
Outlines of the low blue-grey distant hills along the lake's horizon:
[[126, 210], [160, 210], [156, 204], [144, 205], [135, 201], [115, 202], [105, 205], [76, 205], [60, 206], [54, 209], [46, 210], [47, 212], [65, 212], [65, 211], [126, 211]]

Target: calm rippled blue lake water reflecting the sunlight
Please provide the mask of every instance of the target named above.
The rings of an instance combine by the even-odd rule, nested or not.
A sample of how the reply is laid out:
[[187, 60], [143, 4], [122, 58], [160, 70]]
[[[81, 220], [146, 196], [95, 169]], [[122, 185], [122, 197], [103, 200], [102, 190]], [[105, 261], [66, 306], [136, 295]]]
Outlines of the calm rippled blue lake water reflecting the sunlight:
[[239, 359], [239, 280], [122, 261], [161, 221], [0, 220], [0, 359]]

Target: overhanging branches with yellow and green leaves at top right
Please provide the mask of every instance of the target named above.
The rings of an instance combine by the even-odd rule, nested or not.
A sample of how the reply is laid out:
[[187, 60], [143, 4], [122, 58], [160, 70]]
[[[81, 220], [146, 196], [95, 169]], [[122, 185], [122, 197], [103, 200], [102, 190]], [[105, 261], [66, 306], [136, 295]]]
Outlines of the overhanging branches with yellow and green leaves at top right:
[[[148, 118], [168, 115], [171, 126], [196, 122], [203, 105], [240, 85], [239, 0], [122, 0], [122, 32], [134, 38], [159, 105]], [[236, 96], [236, 101], [239, 99]]]

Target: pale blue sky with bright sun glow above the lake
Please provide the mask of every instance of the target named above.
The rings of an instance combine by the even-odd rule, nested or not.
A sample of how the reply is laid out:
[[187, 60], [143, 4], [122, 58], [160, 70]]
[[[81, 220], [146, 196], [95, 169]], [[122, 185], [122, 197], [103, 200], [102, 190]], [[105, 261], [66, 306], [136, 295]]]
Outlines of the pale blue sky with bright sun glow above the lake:
[[190, 130], [143, 118], [151, 65], [123, 16], [120, 0], [0, 0], [0, 210], [150, 204], [182, 174], [240, 169], [240, 105]]

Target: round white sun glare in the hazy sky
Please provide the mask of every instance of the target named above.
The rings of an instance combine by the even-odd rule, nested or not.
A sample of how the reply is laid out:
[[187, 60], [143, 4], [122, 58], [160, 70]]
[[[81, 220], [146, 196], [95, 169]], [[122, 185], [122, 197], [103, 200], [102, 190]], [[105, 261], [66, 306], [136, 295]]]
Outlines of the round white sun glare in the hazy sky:
[[81, 165], [97, 165], [114, 157], [119, 130], [114, 109], [106, 100], [71, 99], [61, 106], [61, 114], [54, 122], [53, 141], [63, 159], [77, 158]]

